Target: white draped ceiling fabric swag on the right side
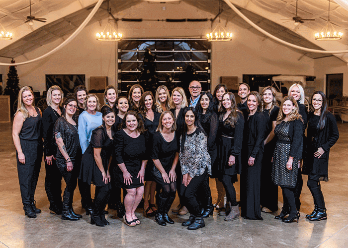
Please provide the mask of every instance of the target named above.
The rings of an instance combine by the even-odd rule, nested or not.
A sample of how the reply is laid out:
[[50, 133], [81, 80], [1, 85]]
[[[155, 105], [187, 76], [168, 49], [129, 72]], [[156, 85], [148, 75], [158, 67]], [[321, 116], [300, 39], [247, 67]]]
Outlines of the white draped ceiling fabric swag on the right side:
[[259, 27], [258, 25], [256, 25], [254, 22], [252, 22], [251, 20], [249, 20], [244, 14], [242, 14], [241, 11], [238, 10], [238, 8], [236, 8], [229, 0], [224, 0], [227, 5], [229, 5], [240, 17], [242, 17], [246, 22], [248, 22], [250, 25], [252, 25], [255, 29], [259, 30], [262, 34], [268, 36], [269, 38], [280, 42], [281, 44], [284, 44], [286, 46], [298, 49], [298, 50], [302, 50], [305, 52], [310, 52], [310, 53], [321, 53], [321, 54], [345, 54], [348, 53], [348, 50], [342, 50], [342, 51], [325, 51], [325, 50], [316, 50], [316, 49], [310, 49], [310, 48], [304, 48], [304, 47], [300, 47], [300, 46], [296, 46], [294, 44], [288, 43], [286, 41], [283, 41], [273, 35], [271, 35], [270, 33], [268, 33], [267, 31], [263, 30], [261, 27]]

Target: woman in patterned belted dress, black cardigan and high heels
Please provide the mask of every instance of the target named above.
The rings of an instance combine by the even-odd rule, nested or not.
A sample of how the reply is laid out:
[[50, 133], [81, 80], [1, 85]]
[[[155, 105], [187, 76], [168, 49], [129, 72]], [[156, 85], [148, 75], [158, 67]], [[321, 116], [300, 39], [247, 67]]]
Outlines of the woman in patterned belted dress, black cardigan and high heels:
[[[288, 207], [283, 207], [275, 219], [291, 223], [300, 218], [296, 210], [295, 186], [297, 183], [298, 158], [301, 151], [302, 118], [298, 113], [298, 105], [292, 96], [286, 96], [281, 102], [281, 111], [277, 117], [274, 128], [276, 137], [275, 149], [272, 158], [272, 181], [281, 187], [283, 202]], [[287, 218], [285, 216], [289, 214]]]

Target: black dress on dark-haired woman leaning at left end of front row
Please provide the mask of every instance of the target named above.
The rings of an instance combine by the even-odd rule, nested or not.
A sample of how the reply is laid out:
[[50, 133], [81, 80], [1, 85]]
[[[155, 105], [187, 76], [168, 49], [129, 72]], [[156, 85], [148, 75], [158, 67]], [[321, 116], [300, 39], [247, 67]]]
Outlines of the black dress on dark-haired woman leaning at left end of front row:
[[109, 160], [113, 150], [114, 132], [111, 129], [112, 139], [107, 135], [105, 124], [92, 131], [89, 145], [82, 155], [80, 177], [83, 182], [95, 186], [105, 186], [103, 176], [94, 160], [94, 148], [101, 148], [100, 157], [105, 173], [109, 166]]

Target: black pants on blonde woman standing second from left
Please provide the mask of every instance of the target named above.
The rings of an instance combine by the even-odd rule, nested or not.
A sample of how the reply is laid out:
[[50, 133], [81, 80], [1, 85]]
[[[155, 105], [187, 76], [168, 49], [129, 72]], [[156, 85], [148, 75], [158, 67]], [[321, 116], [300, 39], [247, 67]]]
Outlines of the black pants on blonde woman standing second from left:
[[56, 160], [52, 159], [52, 165], [48, 165], [45, 161], [45, 168], [45, 190], [50, 205], [62, 205], [62, 174], [57, 167]]

